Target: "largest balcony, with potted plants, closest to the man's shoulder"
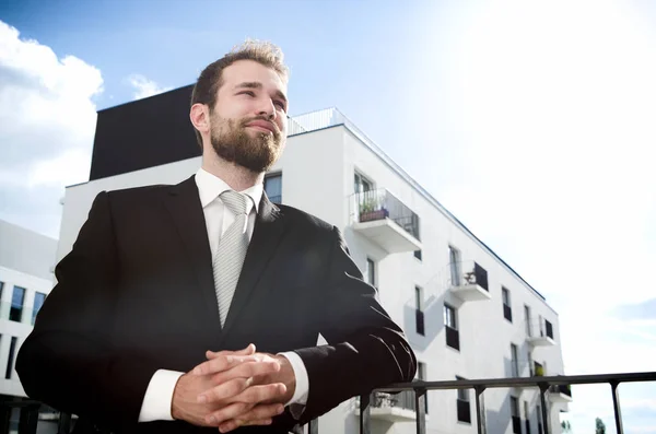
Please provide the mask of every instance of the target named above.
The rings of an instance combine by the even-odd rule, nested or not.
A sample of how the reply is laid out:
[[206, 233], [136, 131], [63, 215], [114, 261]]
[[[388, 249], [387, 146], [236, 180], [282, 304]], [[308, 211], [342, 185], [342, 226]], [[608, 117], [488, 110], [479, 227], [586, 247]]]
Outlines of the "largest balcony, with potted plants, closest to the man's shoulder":
[[385, 189], [353, 195], [353, 230], [388, 254], [420, 250], [419, 215]]

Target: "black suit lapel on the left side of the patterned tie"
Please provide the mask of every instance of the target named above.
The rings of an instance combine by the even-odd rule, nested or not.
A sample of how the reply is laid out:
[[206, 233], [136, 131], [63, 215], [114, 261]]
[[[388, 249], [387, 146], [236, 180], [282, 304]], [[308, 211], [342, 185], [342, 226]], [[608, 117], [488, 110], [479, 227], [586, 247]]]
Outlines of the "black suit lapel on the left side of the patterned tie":
[[214, 291], [212, 253], [195, 177], [173, 186], [164, 202], [185, 244], [185, 257], [190, 262], [200, 288], [201, 297], [191, 298], [203, 305], [199, 308], [207, 314], [203, 318], [208, 319], [208, 330], [216, 330], [216, 335], [220, 335], [221, 320]]

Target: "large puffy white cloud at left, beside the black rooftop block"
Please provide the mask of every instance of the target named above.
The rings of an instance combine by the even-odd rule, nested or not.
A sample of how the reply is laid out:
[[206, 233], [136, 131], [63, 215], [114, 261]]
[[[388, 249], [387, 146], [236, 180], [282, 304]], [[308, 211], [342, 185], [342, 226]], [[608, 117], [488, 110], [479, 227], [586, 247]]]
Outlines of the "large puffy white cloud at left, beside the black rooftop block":
[[58, 235], [63, 187], [89, 176], [101, 92], [96, 68], [0, 22], [0, 219]]

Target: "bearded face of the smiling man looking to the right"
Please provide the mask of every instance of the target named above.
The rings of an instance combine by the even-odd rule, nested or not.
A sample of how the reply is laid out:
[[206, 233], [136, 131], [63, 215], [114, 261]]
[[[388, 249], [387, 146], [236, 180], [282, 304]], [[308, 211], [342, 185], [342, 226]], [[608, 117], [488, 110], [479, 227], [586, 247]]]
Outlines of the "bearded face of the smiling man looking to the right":
[[222, 82], [210, 115], [212, 148], [225, 161], [266, 172], [286, 141], [286, 85], [253, 60], [225, 68]]

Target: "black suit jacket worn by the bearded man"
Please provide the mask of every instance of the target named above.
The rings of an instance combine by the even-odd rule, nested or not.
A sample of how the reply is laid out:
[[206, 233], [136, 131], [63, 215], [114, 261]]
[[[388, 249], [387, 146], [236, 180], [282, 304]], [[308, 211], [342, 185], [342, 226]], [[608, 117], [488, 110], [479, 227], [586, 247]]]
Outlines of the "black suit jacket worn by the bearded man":
[[[412, 350], [340, 232], [266, 195], [224, 328], [194, 177], [101, 192], [56, 277], [16, 371], [30, 397], [78, 414], [82, 425], [202, 432], [183, 421], [137, 423], [152, 375], [188, 372], [207, 350], [250, 342], [261, 352], [295, 351], [309, 395], [300, 421], [286, 412], [238, 432], [296, 431], [350, 397], [414, 376]], [[329, 344], [316, 345], [319, 332]]]

